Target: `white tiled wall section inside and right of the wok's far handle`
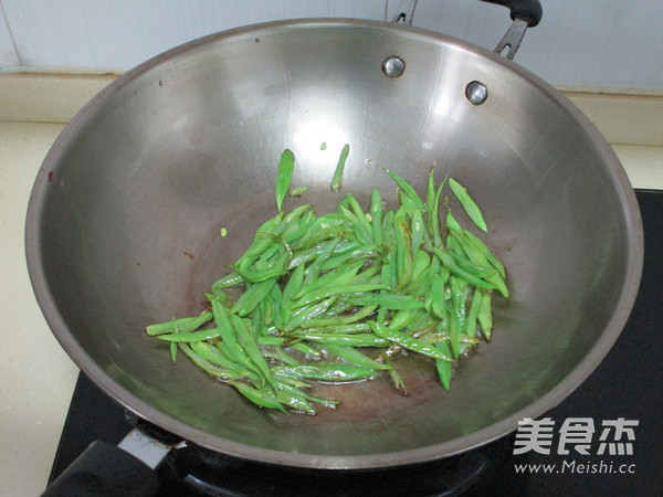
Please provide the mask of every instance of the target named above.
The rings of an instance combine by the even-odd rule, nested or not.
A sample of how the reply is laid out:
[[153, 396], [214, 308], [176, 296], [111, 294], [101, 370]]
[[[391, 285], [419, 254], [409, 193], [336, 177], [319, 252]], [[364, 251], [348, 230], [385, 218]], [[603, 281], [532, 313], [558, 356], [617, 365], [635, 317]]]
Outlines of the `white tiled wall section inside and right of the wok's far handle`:
[[[549, 83], [663, 88], [661, 0], [540, 0], [516, 62]], [[504, 11], [504, 12], [502, 12]], [[493, 49], [509, 25], [504, 7], [472, 0], [419, 0], [414, 24]]]

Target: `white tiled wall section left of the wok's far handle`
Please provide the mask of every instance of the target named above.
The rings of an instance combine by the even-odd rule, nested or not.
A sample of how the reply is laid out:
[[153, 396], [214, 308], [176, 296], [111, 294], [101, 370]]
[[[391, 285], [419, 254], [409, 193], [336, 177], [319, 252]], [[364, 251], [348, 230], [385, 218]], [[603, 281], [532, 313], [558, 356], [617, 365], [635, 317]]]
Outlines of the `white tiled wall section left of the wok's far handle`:
[[120, 71], [230, 28], [302, 17], [383, 19], [386, 6], [385, 0], [2, 0], [0, 4], [23, 65]]

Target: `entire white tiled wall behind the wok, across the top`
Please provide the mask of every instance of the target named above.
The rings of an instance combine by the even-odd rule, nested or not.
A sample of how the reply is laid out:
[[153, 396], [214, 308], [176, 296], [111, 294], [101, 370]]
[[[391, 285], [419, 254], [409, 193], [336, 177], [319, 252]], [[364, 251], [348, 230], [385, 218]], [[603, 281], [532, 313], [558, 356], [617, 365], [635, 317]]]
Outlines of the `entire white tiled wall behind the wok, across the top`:
[[[663, 92], [661, 0], [540, 0], [516, 62], [558, 86]], [[169, 47], [254, 22], [391, 19], [400, 0], [0, 0], [0, 68], [125, 71]], [[2, 21], [2, 20], [0, 20]], [[414, 25], [493, 49], [505, 8], [419, 0]], [[15, 46], [15, 50], [14, 50]]]

